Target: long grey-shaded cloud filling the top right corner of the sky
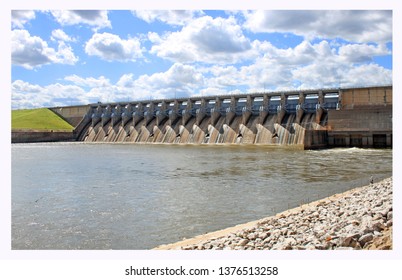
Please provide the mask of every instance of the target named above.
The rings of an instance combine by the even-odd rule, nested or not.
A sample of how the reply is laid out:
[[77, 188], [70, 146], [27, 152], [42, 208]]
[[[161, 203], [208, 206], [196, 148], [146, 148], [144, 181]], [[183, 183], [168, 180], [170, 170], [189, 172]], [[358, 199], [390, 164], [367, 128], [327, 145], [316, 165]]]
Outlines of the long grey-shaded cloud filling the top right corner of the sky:
[[351, 42], [390, 42], [392, 11], [251, 11], [244, 13], [252, 32], [290, 32], [305, 38], [342, 38]]

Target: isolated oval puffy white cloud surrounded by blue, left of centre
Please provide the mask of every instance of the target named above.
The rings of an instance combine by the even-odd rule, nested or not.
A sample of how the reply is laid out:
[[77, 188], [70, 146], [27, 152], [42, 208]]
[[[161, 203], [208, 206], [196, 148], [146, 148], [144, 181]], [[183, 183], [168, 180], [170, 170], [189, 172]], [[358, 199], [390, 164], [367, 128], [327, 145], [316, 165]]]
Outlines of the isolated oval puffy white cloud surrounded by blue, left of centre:
[[127, 40], [110, 33], [95, 33], [85, 44], [88, 55], [99, 56], [107, 61], [136, 61], [143, 57], [141, 43], [137, 38]]

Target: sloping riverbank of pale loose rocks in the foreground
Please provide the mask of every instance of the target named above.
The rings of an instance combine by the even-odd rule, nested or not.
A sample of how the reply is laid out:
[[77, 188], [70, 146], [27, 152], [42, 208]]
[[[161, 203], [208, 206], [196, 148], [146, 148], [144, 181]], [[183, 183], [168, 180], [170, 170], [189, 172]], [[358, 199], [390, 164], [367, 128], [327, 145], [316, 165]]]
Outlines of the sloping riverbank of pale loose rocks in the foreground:
[[156, 250], [392, 249], [392, 178]]

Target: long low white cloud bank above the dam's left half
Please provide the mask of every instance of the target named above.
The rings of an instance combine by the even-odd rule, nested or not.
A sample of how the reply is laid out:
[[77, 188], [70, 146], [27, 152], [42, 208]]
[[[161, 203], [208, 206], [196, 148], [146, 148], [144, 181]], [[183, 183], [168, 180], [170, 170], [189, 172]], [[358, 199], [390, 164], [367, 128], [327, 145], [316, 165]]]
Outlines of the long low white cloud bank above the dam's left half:
[[67, 104], [89, 104], [190, 96], [204, 84], [203, 75], [194, 66], [176, 63], [167, 71], [142, 75], [124, 74], [116, 84], [104, 76], [69, 75], [61, 82], [39, 86], [22, 80], [11, 85], [12, 108], [34, 108]]

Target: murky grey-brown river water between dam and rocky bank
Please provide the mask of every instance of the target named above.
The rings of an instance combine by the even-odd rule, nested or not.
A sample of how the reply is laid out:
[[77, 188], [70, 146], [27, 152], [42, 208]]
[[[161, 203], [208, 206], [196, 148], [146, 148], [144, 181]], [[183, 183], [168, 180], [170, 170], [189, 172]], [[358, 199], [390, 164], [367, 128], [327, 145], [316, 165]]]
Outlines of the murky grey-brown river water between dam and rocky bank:
[[12, 249], [150, 249], [392, 176], [392, 150], [13, 144]]

